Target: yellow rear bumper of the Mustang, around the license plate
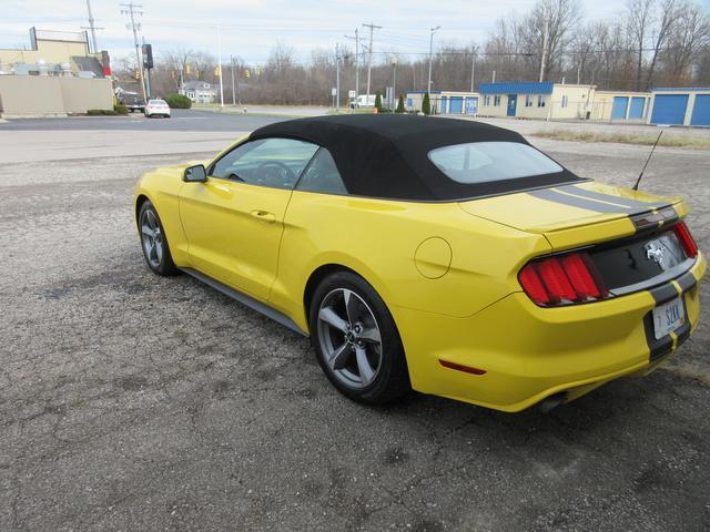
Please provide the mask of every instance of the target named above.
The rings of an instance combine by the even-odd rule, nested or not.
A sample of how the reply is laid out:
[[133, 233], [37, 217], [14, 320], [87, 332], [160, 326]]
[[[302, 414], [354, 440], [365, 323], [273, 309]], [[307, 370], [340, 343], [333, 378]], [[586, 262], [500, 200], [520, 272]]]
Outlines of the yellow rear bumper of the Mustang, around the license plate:
[[[468, 318], [395, 308], [413, 387], [488, 408], [519, 411], [548, 396], [580, 397], [609, 380], [655, 369], [700, 316], [699, 255], [689, 274], [653, 290], [606, 301], [540, 308], [511, 294]], [[682, 295], [687, 323], [655, 340], [653, 307]], [[485, 370], [470, 375], [440, 360]]]

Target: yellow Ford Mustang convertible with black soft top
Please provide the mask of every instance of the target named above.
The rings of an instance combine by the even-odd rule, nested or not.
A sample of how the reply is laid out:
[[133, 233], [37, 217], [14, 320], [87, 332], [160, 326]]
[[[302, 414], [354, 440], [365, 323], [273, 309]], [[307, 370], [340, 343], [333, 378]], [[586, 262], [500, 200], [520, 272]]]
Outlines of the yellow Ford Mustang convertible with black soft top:
[[404, 115], [266, 125], [135, 193], [154, 273], [310, 336], [345, 396], [506, 411], [646, 375], [688, 338], [707, 263], [687, 214], [511, 131]]

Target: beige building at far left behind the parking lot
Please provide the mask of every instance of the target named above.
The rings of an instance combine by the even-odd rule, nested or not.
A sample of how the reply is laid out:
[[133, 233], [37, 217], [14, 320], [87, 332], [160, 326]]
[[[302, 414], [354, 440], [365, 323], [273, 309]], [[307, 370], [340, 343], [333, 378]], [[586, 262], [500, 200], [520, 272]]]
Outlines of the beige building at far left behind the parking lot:
[[28, 49], [0, 49], [0, 115], [65, 115], [113, 109], [106, 52], [87, 32], [30, 29]]

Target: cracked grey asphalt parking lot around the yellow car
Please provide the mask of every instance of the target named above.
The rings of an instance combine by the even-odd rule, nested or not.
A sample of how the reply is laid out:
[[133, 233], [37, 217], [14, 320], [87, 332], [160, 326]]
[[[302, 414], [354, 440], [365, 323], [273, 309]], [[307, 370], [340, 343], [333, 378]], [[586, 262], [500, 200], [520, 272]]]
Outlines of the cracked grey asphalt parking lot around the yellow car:
[[[373, 409], [328, 385], [307, 340], [152, 275], [139, 175], [271, 120], [0, 124], [0, 531], [710, 529], [707, 308], [668, 366], [547, 415]], [[532, 142], [625, 185], [648, 153]], [[642, 185], [688, 197], [706, 253], [709, 180], [707, 151], [659, 149]]]

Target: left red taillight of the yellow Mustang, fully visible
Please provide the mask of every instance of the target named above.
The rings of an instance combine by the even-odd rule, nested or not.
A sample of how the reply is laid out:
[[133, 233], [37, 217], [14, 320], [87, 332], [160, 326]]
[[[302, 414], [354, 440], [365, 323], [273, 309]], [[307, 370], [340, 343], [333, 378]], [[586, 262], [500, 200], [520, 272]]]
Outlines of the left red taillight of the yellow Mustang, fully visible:
[[518, 279], [530, 299], [546, 307], [604, 299], [609, 294], [586, 253], [532, 260]]

